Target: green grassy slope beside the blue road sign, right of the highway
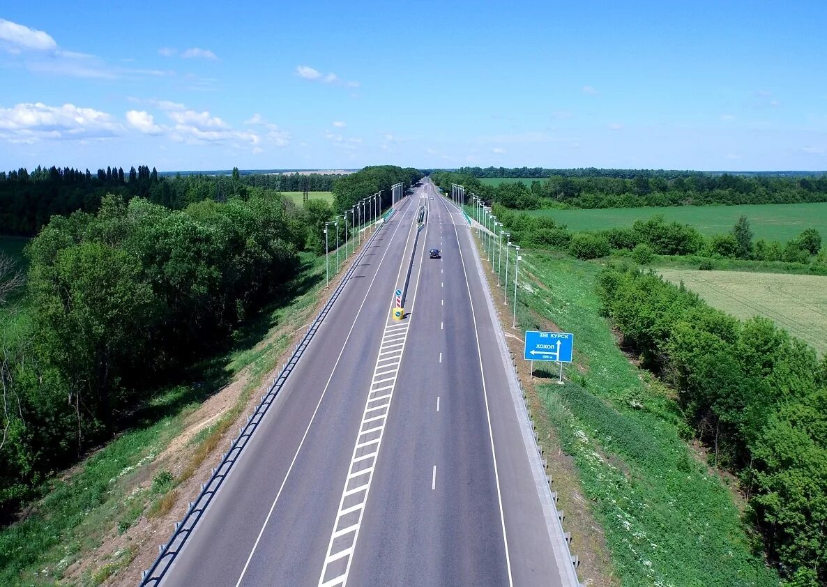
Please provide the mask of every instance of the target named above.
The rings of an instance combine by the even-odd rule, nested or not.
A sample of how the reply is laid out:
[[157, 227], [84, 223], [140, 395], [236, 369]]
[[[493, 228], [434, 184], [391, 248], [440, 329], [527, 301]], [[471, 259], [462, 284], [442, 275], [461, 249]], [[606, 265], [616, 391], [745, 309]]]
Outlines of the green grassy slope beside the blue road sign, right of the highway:
[[777, 585], [753, 554], [739, 500], [681, 440], [689, 431], [671, 393], [624, 356], [600, 317], [600, 265], [522, 254], [523, 329], [550, 321], [575, 333], [576, 365], [566, 369], [566, 384], [537, 389], [621, 583]]

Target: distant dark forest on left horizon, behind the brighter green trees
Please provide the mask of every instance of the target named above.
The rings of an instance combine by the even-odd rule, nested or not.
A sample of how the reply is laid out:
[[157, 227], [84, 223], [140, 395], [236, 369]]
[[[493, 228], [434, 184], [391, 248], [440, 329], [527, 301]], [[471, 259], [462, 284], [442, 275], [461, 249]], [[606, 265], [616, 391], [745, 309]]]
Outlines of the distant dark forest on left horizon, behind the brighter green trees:
[[55, 214], [75, 210], [95, 212], [104, 195], [116, 193], [124, 201], [146, 198], [166, 208], [181, 210], [204, 199], [225, 202], [269, 189], [273, 191], [331, 191], [339, 176], [322, 174], [249, 174], [233, 169], [230, 175], [160, 176], [155, 168], [139, 165], [128, 172], [107, 167], [92, 174], [69, 167], [37, 167], [0, 173], [0, 234], [33, 236]]

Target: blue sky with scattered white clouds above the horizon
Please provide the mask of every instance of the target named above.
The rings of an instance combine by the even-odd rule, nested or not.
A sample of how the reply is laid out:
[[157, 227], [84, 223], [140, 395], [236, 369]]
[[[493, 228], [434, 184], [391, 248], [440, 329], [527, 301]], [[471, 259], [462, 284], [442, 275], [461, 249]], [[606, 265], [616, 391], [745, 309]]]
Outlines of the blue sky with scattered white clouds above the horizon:
[[0, 169], [827, 169], [823, 0], [205, 3], [6, 2]]

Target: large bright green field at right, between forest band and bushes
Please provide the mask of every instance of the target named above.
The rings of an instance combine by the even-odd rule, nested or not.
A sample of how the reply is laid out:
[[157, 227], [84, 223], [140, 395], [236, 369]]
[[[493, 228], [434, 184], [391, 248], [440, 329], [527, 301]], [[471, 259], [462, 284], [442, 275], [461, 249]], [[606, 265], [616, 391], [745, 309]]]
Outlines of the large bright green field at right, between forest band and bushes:
[[814, 227], [820, 230], [821, 237], [827, 241], [827, 203], [544, 209], [528, 213], [532, 216], [550, 216], [556, 222], [566, 224], [571, 231], [630, 227], [636, 220], [648, 220], [653, 214], [662, 214], [668, 221], [691, 224], [707, 236], [729, 232], [743, 214], [756, 239], [788, 241], [805, 228]]

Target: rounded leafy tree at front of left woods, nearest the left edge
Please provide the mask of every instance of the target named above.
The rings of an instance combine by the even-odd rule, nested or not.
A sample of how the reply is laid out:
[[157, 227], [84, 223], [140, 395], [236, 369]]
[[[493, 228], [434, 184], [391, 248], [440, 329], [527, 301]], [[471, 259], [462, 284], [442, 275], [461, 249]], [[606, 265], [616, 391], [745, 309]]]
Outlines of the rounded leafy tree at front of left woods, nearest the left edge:
[[121, 370], [143, 355], [140, 333], [155, 312], [141, 264], [127, 252], [85, 242], [33, 267], [39, 348], [69, 382], [81, 430], [107, 430], [122, 407]]

